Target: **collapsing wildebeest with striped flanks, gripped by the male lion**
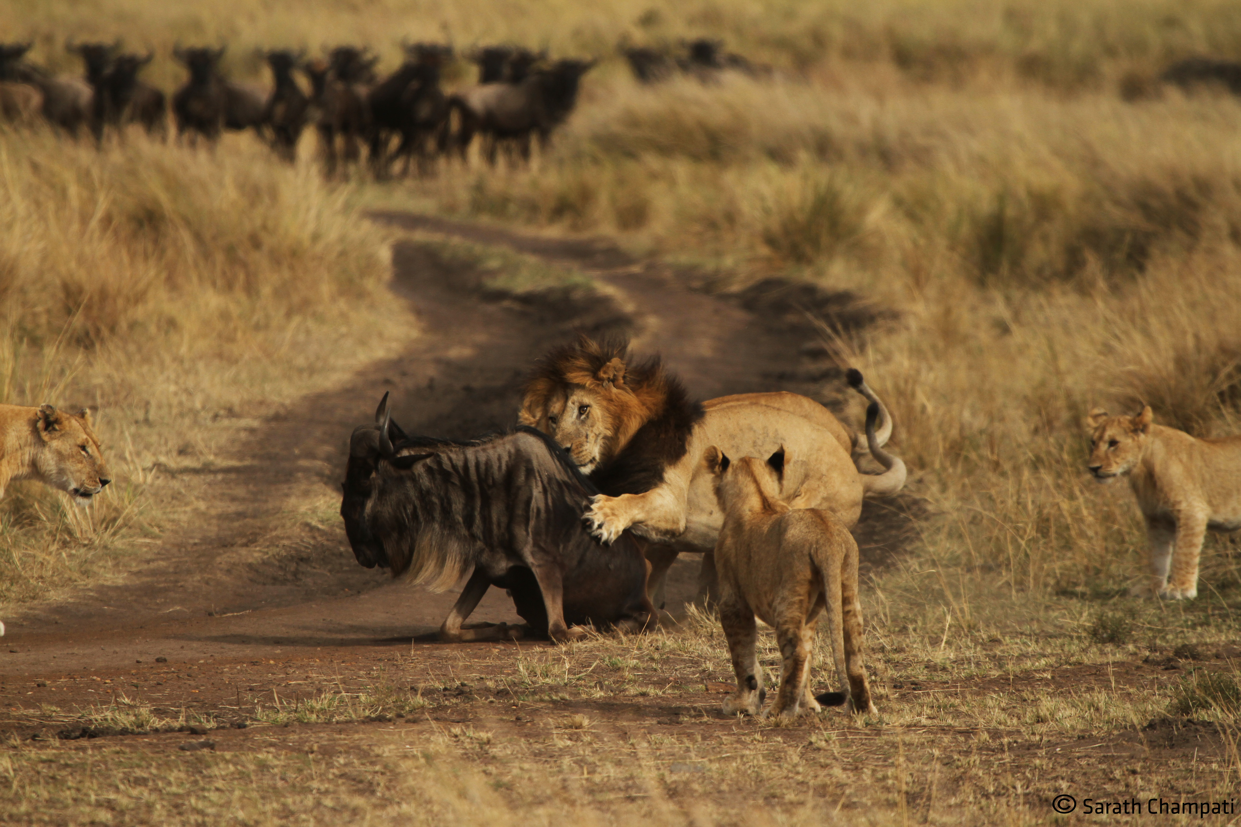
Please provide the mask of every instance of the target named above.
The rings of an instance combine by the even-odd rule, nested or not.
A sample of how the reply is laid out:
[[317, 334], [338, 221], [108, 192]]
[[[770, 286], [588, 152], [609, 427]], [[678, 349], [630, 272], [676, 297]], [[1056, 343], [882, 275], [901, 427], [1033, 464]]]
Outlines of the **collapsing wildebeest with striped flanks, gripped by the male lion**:
[[463, 630], [493, 585], [552, 641], [582, 627], [642, 630], [655, 621], [647, 562], [623, 534], [591, 537], [582, 512], [596, 489], [549, 436], [532, 428], [469, 441], [406, 436], [390, 420], [354, 430], [340, 515], [357, 562], [410, 573], [442, 590], [469, 580], [439, 630], [442, 640], [495, 640], [505, 627]]

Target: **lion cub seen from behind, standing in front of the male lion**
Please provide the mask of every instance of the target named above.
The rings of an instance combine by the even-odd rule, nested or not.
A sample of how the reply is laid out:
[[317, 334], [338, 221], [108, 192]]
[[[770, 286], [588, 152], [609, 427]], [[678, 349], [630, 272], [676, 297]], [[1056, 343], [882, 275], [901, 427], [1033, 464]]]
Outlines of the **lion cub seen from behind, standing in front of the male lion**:
[[[858, 601], [858, 543], [831, 512], [789, 508], [778, 500], [784, 449], [764, 462], [745, 456], [731, 462], [717, 448], [705, 454], [715, 475], [724, 527], [715, 547], [720, 578], [720, 622], [728, 639], [737, 693], [725, 714], [757, 714], [766, 692], [755, 655], [755, 616], [776, 630], [783, 656], [779, 693], [772, 714], [817, 712], [819, 703], [846, 701], [854, 712], [875, 712], [862, 666], [861, 605]], [[813, 697], [810, 653], [819, 614], [828, 609], [831, 652], [844, 692]]]

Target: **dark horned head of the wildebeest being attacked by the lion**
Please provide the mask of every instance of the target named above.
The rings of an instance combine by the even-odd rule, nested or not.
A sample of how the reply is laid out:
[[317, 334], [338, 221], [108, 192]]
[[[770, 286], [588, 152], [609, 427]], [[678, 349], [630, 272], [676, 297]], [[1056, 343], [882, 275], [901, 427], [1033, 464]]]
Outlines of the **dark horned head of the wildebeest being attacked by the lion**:
[[379, 475], [381, 464], [393, 464], [408, 467], [427, 454], [397, 456], [393, 440], [406, 438], [401, 427], [392, 422], [387, 409], [387, 396], [383, 394], [380, 407], [375, 410], [375, 425], [360, 425], [349, 439], [349, 462], [345, 466], [345, 482], [341, 486], [344, 497], [340, 501], [340, 516], [345, 521], [345, 534], [354, 549], [354, 557], [366, 568], [391, 568], [387, 549], [375, 532], [375, 511], [379, 502]]

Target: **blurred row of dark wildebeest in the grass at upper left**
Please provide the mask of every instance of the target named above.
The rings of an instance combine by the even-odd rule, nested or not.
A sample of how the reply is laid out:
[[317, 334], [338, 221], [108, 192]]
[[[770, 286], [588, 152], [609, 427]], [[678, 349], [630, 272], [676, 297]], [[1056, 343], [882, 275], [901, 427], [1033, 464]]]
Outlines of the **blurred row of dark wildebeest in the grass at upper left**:
[[[321, 57], [305, 51], [263, 52], [272, 87], [240, 83], [221, 67], [225, 47], [172, 50], [189, 77], [169, 98], [139, 73], [154, 53], [137, 55], [114, 43], [66, 43], [83, 62], [81, 77], [53, 76], [26, 60], [30, 43], [0, 45], [0, 118], [10, 124], [50, 124], [102, 140], [108, 130], [138, 124], [153, 135], [168, 130], [187, 141], [213, 141], [225, 130], [254, 133], [283, 159], [293, 160], [307, 128], [319, 134], [329, 174], [360, 161], [362, 148], [376, 175], [393, 162], [464, 155], [475, 139], [485, 157], [501, 148], [529, 157], [534, 138], [546, 143], [577, 104], [580, 82], [594, 61], [550, 60], [546, 52], [489, 46], [467, 52], [478, 83], [448, 93], [442, 84], [453, 48], [403, 43], [403, 61], [387, 76], [365, 47], [338, 46]], [[298, 76], [303, 76], [303, 81]]]

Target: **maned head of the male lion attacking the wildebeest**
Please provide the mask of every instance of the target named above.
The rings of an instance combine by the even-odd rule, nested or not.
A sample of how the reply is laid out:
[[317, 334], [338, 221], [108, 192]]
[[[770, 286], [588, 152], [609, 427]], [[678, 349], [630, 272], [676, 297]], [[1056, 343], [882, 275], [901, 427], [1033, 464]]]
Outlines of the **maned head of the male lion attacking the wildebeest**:
[[541, 360], [517, 422], [537, 428], [565, 449], [583, 474], [616, 456], [666, 393], [658, 360], [630, 368], [624, 342], [582, 336]]

